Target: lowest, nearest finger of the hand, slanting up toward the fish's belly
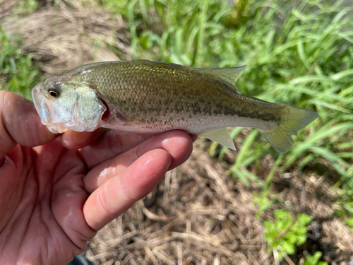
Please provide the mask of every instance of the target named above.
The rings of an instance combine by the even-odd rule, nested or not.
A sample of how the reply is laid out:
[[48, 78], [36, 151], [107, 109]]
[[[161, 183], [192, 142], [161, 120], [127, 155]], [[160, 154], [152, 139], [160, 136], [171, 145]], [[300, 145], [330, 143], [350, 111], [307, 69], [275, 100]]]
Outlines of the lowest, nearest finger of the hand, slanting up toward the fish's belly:
[[140, 156], [126, 170], [102, 183], [83, 206], [85, 220], [100, 230], [155, 188], [171, 163], [167, 151], [154, 149]]

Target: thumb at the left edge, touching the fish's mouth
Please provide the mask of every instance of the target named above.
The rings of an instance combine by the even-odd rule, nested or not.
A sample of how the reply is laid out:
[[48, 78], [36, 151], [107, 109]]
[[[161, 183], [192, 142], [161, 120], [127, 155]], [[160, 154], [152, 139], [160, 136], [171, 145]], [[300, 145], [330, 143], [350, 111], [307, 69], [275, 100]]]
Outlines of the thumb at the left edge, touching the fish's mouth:
[[40, 146], [53, 141], [56, 136], [41, 124], [30, 100], [15, 93], [0, 91], [0, 160], [16, 144]]

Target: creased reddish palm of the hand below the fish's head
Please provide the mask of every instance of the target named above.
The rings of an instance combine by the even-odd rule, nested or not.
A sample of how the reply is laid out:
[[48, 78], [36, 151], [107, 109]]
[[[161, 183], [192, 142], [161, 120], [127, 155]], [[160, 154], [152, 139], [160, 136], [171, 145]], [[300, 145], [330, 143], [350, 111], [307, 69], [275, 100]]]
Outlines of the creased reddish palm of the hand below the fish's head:
[[[0, 260], [15, 264], [16, 251], [18, 261], [67, 264], [95, 235], [82, 212], [89, 196], [83, 188], [85, 164], [58, 141], [42, 146], [37, 157], [35, 153], [17, 146], [9, 154], [24, 163], [17, 164], [11, 183], [4, 187], [12, 192], [0, 198], [1, 212], [8, 213], [1, 216], [0, 242], [6, 244], [1, 245]], [[32, 257], [38, 249], [37, 257]]]

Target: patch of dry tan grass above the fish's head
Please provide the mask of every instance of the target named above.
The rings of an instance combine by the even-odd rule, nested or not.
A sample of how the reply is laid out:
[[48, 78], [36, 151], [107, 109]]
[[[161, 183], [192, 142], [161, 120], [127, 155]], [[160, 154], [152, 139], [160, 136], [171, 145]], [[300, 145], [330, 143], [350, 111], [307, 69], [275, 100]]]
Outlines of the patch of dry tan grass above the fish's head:
[[[18, 1], [3, 1], [8, 6]], [[109, 13], [85, 9], [79, 1], [70, 1], [76, 9], [64, 3], [58, 8], [49, 6], [25, 18], [4, 23], [8, 33], [18, 33], [23, 38], [23, 49], [34, 52], [42, 61], [46, 76], [73, 69], [92, 61], [117, 61], [131, 59], [128, 31], [121, 16], [111, 18]], [[119, 58], [108, 46], [114, 45], [121, 52]]]

